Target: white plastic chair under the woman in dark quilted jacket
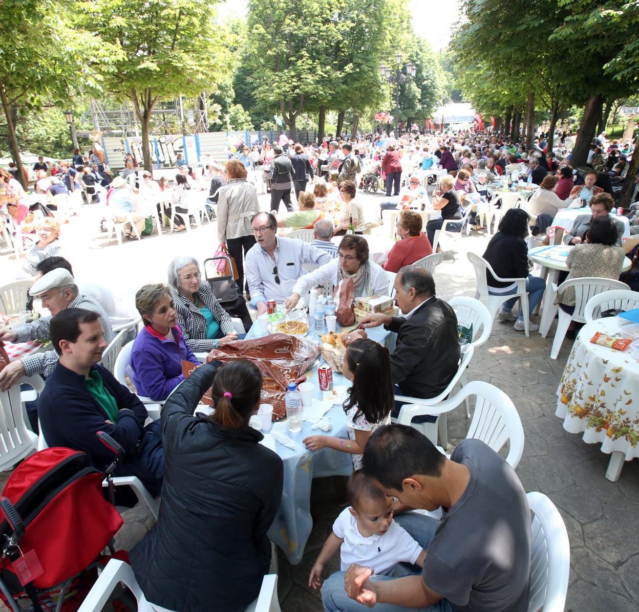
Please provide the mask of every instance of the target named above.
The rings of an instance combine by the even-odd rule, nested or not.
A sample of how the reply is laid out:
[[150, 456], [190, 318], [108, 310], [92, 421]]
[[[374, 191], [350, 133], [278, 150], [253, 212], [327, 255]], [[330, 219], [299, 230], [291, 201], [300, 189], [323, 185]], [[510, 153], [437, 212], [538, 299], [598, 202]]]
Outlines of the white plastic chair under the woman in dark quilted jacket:
[[[101, 612], [119, 583], [124, 583], [133, 593], [137, 601], [138, 612], [166, 611], [166, 608], [150, 604], [146, 600], [137, 579], [135, 579], [133, 568], [128, 563], [119, 559], [110, 559], [84, 598], [78, 612]], [[213, 608], [215, 606], [212, 606]], [[266, 574], [262, 579], [258, 599], [245, 608], [245, 612], [281, 612], [277, 601], [277, 574]]]

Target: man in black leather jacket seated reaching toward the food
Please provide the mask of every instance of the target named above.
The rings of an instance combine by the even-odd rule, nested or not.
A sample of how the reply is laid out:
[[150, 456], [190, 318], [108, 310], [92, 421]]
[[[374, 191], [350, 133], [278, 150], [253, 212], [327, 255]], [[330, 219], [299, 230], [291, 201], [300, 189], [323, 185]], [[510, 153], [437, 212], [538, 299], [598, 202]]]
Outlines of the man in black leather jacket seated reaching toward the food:
[[397, 332], [396, 348], [390, 356], [397, 394], [436, 397], [458, 370], [457, 317], [446, 302], [436, 298], [435, 280], [424, 268], [401, 268], [395, 278], [395, 291], [397, 306], [406, 318], [371, 314], [360, 325], [384, 325]]

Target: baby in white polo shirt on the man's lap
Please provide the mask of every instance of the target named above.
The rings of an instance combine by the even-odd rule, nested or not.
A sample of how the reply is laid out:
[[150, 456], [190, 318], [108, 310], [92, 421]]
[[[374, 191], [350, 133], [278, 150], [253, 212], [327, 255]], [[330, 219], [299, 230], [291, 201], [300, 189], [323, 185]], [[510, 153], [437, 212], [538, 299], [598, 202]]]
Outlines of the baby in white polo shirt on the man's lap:
[[309, 586], [321, 585], [321, 572], [328, 560], [340, 551], [340, 570], [352, 563], [372, 567], [375, 574], [390, 576], [397, 563], [424, 566], [426, 551], [393, 521], [392, 498], [364, 476], [354, 471], [348, 479], [346, 494], [350, 507], [333, 523], [331, 533], [309, 576]]

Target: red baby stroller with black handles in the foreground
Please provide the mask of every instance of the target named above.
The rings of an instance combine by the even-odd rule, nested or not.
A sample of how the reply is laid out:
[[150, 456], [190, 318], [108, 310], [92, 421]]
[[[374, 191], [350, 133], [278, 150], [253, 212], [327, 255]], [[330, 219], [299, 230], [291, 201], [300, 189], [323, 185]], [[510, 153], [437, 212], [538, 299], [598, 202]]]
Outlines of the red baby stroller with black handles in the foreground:
[[[113, 471], [123, 448], [104, 432], [114, 461], [104, 473], [89, 455], [70, 448], [46, 448], [27, 457], [13, 472], [0, 497], [0, 598], [13, 612], [20, 603], [35, 612], [72, 612], [97, 579], [97, 568], [114, 553], [111, 540], [123, 524], [114, 506]], [[102, 482], [109, 484], [109, 498]], [[111, 555], [102, 556], [109, 547]]]

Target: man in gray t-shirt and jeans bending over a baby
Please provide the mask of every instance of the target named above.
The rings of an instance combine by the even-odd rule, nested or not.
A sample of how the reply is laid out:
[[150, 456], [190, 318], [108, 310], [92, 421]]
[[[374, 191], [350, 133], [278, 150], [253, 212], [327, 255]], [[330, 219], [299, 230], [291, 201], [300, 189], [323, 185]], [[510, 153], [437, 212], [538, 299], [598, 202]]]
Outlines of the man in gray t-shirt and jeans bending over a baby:
[[500, 455], [482, 441], [464, 440], [446, 459], [416, 429], [389, 425], [369, 438], [363, 470], [399, 500], [396, 512], [442, 507], [442, 521], [414, 512], [397, 517], [426, 549], [422, 573], [389, 579], [353, 564], [323, 586], [328, 612], [377, 603], [392, 604], [394, 612], [528, 609], [530, 509]]

